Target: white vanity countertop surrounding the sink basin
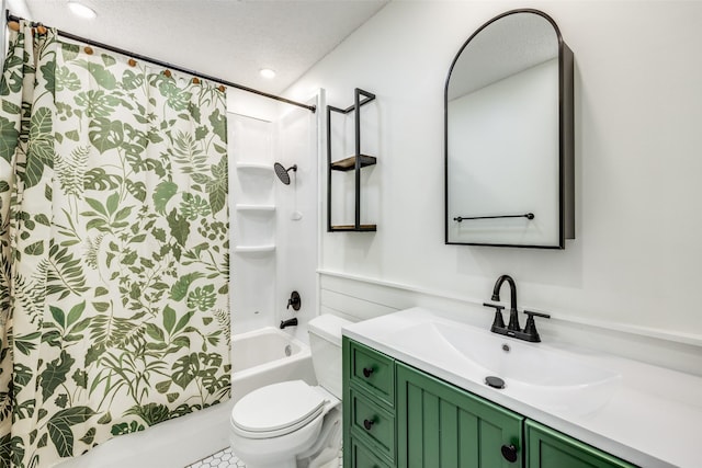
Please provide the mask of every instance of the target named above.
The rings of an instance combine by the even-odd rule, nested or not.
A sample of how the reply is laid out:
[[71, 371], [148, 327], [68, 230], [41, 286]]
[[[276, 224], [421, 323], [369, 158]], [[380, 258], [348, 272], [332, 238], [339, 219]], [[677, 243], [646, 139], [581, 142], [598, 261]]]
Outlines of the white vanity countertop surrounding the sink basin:
[[[343, 334], [457, 387], [509, 408], [577, 440], [642, 467], [702, 467], [702, 378], [636, 361], [575, 349], [564, 343], [525, 343], [501, 336], [507, 343], [525, 343], [565, 353], [580, 362], [612, 370], [621, 376], [609, 400], [585, 414], [525, 402], [475, 378], [466, 378], [445, 363], [427, 358], [392, 344], [398, 330], [431, 317], [443, 320], [441, 311], [415, 307], [343, 328]], [[445, 318], [455, 323], [455, 317]]]

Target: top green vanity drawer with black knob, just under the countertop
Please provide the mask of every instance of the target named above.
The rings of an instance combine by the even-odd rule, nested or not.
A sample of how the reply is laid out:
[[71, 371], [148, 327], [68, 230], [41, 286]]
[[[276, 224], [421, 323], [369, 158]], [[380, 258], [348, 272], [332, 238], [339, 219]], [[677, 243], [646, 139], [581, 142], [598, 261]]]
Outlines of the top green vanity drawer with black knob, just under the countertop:
[[350, 345], [351, 381], [388, 407], [395, 406], [394, 361], [360, 343]]

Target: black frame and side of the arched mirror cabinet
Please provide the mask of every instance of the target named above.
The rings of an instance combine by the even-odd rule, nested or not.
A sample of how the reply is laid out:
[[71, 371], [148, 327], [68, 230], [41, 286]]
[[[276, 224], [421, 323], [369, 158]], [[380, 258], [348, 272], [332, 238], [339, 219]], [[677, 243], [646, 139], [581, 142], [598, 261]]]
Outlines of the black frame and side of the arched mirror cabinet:
[[[473, 243], [449, 241], [449, 83], [451, 73], [463, 50], [471, 41], [491, 23], [516, 13], [533, 13], [547, 20], [558, 38], [558, 210], [559, 236], [557, 246], [529, 246], [511, 243]], [[458, 246], [520, 247], [535, 249], [565, 249], [566, 239], [575, 239], [575, 105], [574, 105], [574, 56], [563, 41], [556, 22], [546, 13], [534, 9], [517, 9], [501, 13], [478, 27], [463, 44], [451, 62], [444, 85], [444, 243]]]

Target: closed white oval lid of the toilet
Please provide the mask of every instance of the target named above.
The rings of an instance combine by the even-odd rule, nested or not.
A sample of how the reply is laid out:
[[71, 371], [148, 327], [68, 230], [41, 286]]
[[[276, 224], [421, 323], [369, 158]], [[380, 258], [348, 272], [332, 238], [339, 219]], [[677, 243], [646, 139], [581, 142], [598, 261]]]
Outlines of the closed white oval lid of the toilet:
[[246, 395], [231, 410], [235, 430], [253, 438], [276, 437], [304, 426], [326, 400], [303, 380], [273, 384]]

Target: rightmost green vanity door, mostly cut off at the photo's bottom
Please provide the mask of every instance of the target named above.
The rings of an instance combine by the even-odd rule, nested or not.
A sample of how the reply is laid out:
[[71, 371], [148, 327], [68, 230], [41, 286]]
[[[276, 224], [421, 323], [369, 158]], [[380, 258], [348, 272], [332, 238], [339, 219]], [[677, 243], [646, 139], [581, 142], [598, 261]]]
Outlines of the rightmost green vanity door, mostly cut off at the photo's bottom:
[[634, 468], [624, 460], [535, 421], [524, 424], [526, 468]]

